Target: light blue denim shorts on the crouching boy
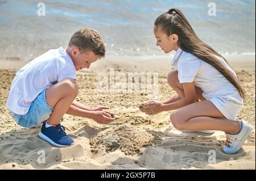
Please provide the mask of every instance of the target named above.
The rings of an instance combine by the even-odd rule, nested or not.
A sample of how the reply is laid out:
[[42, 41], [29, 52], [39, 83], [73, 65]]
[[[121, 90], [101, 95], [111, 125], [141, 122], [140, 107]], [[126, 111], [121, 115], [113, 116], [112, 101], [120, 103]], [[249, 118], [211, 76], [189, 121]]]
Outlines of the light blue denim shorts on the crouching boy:
[[44, 120], [49, 118], [52, 110], [53, 107], [49, 106], [46, 102], [46, 91], [44, 90], [32, 102], [26, 115], [17, 115], [11, 111], [11, 117], [22, 127], [38, 127]]

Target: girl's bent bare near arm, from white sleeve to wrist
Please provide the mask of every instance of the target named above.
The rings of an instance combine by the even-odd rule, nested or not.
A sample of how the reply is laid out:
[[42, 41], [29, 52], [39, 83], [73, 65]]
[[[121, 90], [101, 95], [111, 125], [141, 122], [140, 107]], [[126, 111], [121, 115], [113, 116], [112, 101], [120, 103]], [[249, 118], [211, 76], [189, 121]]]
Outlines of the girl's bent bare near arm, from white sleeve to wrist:
[[194, 82], [183, 83], [183, 89], [185, 97], [177, 100], [174, 103], [163, 104], [163, 111], [177, 110], [181, 107], [187, 106], [188, 104], [196, 102], [196, 90]]

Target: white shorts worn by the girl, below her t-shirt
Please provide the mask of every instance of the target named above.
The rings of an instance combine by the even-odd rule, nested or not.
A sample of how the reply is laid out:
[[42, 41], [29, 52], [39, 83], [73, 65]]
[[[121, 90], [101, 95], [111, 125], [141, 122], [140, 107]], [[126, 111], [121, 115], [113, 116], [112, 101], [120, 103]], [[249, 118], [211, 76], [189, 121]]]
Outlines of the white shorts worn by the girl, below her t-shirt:
[[243, 106], [225, 98], [211, 98], [210, 102], [229, 120], [236, 120]]

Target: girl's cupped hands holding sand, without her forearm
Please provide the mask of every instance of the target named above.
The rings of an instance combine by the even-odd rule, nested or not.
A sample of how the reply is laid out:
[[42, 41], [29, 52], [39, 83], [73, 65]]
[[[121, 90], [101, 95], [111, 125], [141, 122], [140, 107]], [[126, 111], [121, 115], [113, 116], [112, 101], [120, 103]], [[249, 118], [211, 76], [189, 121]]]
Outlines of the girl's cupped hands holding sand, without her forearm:
[[147, 107], [142, 107], [139, 110], [147, 115], [155, 115], [163, 111], [163, 103], [158, 100], [152, 100], [147, 102]]

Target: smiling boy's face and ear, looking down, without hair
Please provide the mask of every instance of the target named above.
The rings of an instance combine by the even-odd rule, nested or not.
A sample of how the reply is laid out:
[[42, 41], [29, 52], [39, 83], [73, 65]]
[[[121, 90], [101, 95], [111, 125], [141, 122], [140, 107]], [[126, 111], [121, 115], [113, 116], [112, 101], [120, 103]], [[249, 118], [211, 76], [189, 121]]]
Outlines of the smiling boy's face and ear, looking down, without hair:
[[76, 70], [82, 70], [84, 68], [89, 69], [90, 64], [96, 62], [98, 58], [100, 58], [100, 56], [97, 56], [92, 51], [80, 52], [77, 48], [74, 48], [71, 54]]

